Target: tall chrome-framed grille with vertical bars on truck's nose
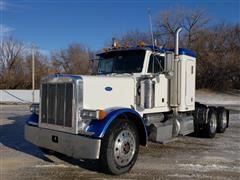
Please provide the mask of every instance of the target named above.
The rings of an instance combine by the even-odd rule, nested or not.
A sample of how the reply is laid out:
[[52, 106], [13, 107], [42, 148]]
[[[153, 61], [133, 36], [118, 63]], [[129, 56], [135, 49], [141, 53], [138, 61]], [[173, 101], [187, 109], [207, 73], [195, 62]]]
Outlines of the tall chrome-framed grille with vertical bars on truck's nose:
[[72, 127], [73, 84], [42, 84], [41, 123]]

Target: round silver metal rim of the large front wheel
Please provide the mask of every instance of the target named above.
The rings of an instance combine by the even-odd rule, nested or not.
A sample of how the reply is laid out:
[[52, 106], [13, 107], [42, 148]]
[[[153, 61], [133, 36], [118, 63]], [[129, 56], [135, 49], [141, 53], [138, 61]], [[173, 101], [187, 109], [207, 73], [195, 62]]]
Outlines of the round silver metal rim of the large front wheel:
[[114, 159], [119, 166], [126, 166], [133, 158], [136, 151], [134, 135], [129, 130], [119, 133], [114, 142]]

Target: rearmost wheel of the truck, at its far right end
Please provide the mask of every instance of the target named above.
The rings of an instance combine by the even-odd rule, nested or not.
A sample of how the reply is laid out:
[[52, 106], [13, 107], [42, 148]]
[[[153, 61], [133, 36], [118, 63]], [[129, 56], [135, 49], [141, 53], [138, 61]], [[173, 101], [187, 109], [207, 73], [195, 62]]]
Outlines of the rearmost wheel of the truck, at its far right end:
[[227, 128], [227, 110], [225, 108], [221, 108], [218, 111], [218, 119], [217, 119], [217, 132], [224, 133]]

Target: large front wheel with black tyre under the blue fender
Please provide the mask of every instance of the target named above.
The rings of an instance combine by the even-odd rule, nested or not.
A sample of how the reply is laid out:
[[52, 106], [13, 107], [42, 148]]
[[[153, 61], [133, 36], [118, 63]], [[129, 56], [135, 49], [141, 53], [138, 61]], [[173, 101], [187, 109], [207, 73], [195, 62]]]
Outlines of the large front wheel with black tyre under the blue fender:
[[135, 164], [139, 151], [139, 136], [135, 124], [117, 119], [105, 134], [100, 154], [104, 171], [110, 174], [128, 172]]

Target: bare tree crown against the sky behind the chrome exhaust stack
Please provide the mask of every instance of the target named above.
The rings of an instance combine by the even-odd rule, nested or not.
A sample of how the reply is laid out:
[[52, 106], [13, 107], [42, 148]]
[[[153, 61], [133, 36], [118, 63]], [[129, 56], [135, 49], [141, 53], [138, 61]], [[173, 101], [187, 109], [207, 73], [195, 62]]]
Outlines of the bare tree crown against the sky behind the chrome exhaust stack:
[[[201, 9], [185, 10], [185, 9], [169, 9], [161, 12], [155, 19], [156, 35], [163, 45], [173, 46], [174, 33], [178, 27], [185, 29], [183, 43], [190, 48], [196, 35], [205, 28], [209, 18], [206, 12]], [[187, 37], [187, 38], [186, 38]]]

